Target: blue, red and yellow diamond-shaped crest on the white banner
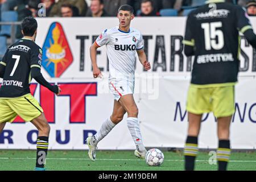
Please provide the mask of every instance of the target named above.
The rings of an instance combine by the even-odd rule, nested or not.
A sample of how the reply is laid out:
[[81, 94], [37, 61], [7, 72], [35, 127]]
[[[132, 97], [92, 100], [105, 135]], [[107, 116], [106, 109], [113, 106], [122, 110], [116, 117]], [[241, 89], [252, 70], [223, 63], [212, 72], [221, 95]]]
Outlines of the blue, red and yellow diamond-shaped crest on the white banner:
[[60, 77], [73, 62], [73, 56], [60, 23], [49, 27], [43, 45], [42, 65], [51, 77]]

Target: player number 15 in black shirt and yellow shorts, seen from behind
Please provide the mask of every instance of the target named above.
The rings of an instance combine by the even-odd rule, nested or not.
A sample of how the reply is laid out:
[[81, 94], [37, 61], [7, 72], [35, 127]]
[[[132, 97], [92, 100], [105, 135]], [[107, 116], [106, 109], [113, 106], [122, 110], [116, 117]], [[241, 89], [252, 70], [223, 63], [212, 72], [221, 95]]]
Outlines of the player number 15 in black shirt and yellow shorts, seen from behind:
[[194, 169], [201, 117], [210, 111], [218, 121], [218, 169], [227, 168], [229, 126], [235, 110], [234, 85], [239, 70], [239, 31], [256, 48], [256, 35], [245, 10], [224, 0], [206, 1], [206, 5], [188, 15], [184, 52], [186, 56], [195, 55], [195, 60], [187, 98], [186, 170]]

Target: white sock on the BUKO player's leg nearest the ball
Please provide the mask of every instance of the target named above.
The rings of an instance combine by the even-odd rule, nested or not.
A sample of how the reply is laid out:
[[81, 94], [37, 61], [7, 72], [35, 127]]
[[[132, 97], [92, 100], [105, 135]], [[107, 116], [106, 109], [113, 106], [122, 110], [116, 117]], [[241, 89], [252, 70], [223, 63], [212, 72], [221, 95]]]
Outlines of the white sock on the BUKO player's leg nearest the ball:
[[131, 137], [133, 137], [137, 150], [141, 152], [146, 150], [146, 148], [143, 146], [143, 143], [142, 143], [142, 135], [141, 135], [141, 129], [139, 128], [138, 118], [133, 118], [133, 117], [127, 118], [127, 126], [128, 126], [128, 129], [130, 130]]

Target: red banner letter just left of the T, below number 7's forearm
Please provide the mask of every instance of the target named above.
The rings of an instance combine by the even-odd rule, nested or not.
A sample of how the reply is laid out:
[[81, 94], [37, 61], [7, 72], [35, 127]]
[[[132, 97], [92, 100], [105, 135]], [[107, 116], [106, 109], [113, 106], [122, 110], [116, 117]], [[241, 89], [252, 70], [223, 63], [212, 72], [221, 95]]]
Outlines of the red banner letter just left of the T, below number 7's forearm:
[[40, 85], [40, 105], [48, 123], [55, 123], [55, 94], [42, 85]]

